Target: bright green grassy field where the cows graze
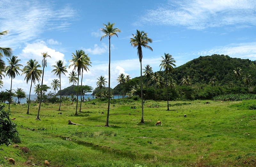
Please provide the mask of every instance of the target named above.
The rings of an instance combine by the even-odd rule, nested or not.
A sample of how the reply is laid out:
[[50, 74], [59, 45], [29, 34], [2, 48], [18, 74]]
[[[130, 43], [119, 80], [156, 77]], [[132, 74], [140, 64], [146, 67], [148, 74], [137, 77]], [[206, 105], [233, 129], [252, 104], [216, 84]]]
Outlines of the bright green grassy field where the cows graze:
[[256, 100], [205, 102], [171, 101], [166, 111], [165, 101], [146, 101], [144, 124], [139, 101], [111, 104], [110, 127], [104, 127], [106, 103], [85, 102], [78, 116], [75, 103], [63, 103], [62, 115], [58, 104], [43, 104], [41, 121], [35, 120], [37, 105], [29, 115], [27, 105], [11, 105], [19, 146], [30, 152], [1, 145], [0, 165], [26, 166], [30, 160], [45, 166], [47, 160], [50, 166], [81, 167], [256, 166], [256, 112], [248, 109]]

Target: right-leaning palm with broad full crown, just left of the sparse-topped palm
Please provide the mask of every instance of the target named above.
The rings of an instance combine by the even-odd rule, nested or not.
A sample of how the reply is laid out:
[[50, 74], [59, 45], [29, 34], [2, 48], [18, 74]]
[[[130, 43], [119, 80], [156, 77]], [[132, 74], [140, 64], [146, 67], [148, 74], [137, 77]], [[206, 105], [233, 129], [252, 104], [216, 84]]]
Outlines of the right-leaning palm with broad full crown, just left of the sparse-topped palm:
[[27, 62], [27, 65], [22, 69], [22, 74], [25, 74], [25, 79], [28, 83], [29, 80], [31, 80], [31, 85], [29, 89], [29, 97], [28, 97], [28, 111], [27, 114], [29, 114], [29, 104], [30, 104], [30, 94], [31, 94], [31, 88], [32, 83], [36, 83], [36, 81], [40, 81], [41, 74], [43, 73], [42, 70], [38, 69], [41, 68], [41, 65], [38, 64], [36, 60], [30, 59]]

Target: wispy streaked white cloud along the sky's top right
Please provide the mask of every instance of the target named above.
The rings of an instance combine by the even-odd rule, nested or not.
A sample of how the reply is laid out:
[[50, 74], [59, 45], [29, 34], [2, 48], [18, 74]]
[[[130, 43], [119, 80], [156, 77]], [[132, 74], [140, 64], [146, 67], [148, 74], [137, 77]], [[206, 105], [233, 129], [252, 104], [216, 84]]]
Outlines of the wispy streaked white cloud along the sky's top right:
[[156, 10], [148, 10], [139, 22], [198, 30], [224, 25], [247, 27], [256, 25], [255, 5], [250, 0], [170, 1]]

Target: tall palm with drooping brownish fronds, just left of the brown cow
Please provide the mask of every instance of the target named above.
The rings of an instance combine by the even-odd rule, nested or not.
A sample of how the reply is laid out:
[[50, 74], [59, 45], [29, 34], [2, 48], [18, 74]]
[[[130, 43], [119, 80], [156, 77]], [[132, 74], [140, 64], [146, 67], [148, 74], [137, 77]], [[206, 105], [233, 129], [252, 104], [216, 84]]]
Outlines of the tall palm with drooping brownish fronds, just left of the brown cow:
[[138, 56], [140, 60], [140, 88], [141, 88], [141, 121], [140, 123], [144, 123], [143, 118], [143, 91], [142, 91], [142, 46], [148, 48], [149, 50], [153, 51], [153, 49], [148, 46], [148, 43], [152, 43], [152, 39], [148, 38], [148, 34], [144, 31], [137, 30], [136, 35], [132, 34], [133, 38], [130, 38], [130, 43], [133, 47], [137, 47]]

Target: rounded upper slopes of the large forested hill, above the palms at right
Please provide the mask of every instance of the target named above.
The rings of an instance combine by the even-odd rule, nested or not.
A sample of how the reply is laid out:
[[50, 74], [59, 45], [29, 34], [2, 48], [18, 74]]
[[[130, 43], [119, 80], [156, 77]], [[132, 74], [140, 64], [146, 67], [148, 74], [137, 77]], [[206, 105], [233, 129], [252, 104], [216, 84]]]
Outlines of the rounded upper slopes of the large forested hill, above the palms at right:
[[[191, 60], [184, 65], [174, 68], [171, 76], [180, 84], [181, 79], [188, 75], [191, 79], [191, 84], [206, 83], [212, 77], [218, 79], [220, 85], [227, 85], [234, 82], [235, 68], [242, 69], [242, 77], [250, 74], [252, 77], [252, 85], [256, 84], [256, 61], [249, 59], [231, 58], [228, 55], [200, 56], [197, 59]], [[163, 72], [160, 74], [165, 75]]]

